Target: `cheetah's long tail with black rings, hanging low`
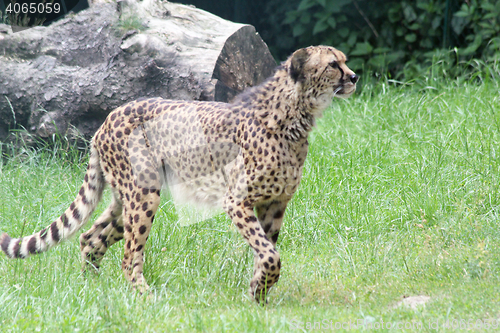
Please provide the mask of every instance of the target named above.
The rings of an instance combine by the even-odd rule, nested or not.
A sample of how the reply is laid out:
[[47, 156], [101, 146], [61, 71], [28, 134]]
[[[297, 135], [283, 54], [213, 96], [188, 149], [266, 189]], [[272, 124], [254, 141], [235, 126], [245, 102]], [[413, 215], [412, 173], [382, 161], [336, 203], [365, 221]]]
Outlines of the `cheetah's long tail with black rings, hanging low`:
[[2, 234], [0, 247], [8, 257], [26, 258], [31, 254], [48, 251], [73, 236], [87, 222], [104, 189], [99, 154], [93, 141], [91, 147], [85, 180], [76, 199], [58, 219], [35, 234], [21, 238], [10, 238], [6, 233]]

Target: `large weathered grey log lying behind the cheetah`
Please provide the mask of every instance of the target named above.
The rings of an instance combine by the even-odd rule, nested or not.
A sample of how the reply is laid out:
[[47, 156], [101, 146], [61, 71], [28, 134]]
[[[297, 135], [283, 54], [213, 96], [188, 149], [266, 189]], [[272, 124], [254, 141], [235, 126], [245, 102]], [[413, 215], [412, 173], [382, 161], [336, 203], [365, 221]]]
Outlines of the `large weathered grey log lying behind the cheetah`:
[[98, 3], [17, 33], [0, 25], [0, 139], [19, 127], [90, 138], [139, 97], [228, 102], [275, 66], [252, 26], [160, 0]]

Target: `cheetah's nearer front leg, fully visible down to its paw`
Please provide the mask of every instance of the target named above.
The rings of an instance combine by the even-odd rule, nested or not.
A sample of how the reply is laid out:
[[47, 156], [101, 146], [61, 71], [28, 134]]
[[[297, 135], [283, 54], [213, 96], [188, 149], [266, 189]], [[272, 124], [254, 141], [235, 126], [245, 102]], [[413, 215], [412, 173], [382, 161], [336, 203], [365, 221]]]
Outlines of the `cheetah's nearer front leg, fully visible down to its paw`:
[[265, 302], [267, 292], [280, 276], [279, 253], [262, 230], [249, 202], [236, 204], [234, 198], [227, 197], [224, 200], [224, 210], [254, 250], [254, 275], [249, 292], [258, 303]]

